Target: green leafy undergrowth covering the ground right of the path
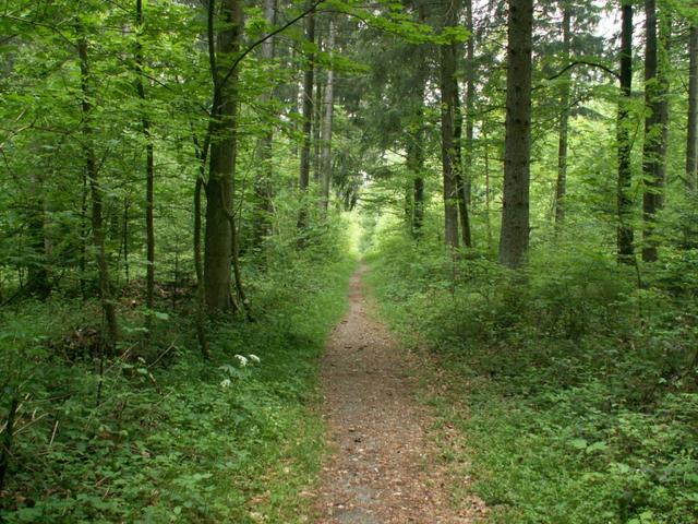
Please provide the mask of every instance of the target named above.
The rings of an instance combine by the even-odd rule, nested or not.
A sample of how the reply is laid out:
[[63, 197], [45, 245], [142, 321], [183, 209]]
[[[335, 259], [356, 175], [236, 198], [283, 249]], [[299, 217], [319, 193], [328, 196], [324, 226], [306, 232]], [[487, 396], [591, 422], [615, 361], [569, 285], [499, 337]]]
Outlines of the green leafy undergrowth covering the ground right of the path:
[[473, 489], [502, 524], [698, 522], [695, 259], [667, 255], [638, 289], [579, 247], [513, 274], [383, 239], [369, 257], [382, 311], [448, 377], [432, 402], [474, 478], [454, 493]]

